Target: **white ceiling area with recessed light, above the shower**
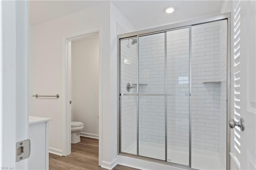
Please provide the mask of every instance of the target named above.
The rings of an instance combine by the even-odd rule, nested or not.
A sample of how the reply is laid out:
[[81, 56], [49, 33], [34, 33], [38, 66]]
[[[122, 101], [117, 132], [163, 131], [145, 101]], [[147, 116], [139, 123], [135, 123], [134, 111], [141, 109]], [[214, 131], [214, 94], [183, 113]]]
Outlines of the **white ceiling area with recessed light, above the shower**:
[[[220, 12], [223, 1], [219, 0], [168, 0], [168, 1], [113, 1], [113, 4], [134, 25], [146, 28], [188, 18], [214, 15]], [[167, 14], [165, 9], [174, 8]]]

